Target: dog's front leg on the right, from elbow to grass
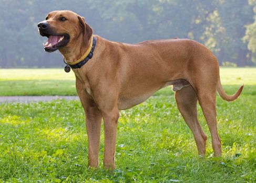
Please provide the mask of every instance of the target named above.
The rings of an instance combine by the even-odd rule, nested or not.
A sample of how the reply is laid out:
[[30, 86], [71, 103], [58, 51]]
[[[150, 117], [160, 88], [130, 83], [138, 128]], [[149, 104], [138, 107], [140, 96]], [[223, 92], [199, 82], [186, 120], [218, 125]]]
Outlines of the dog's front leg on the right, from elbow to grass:
[[117, 134], [117, 121], [119, 118], [119, 111], [116, 108], [104, 112], [104, 167], [115, 169], [115, 151], [116, 151], [116, 134]]

